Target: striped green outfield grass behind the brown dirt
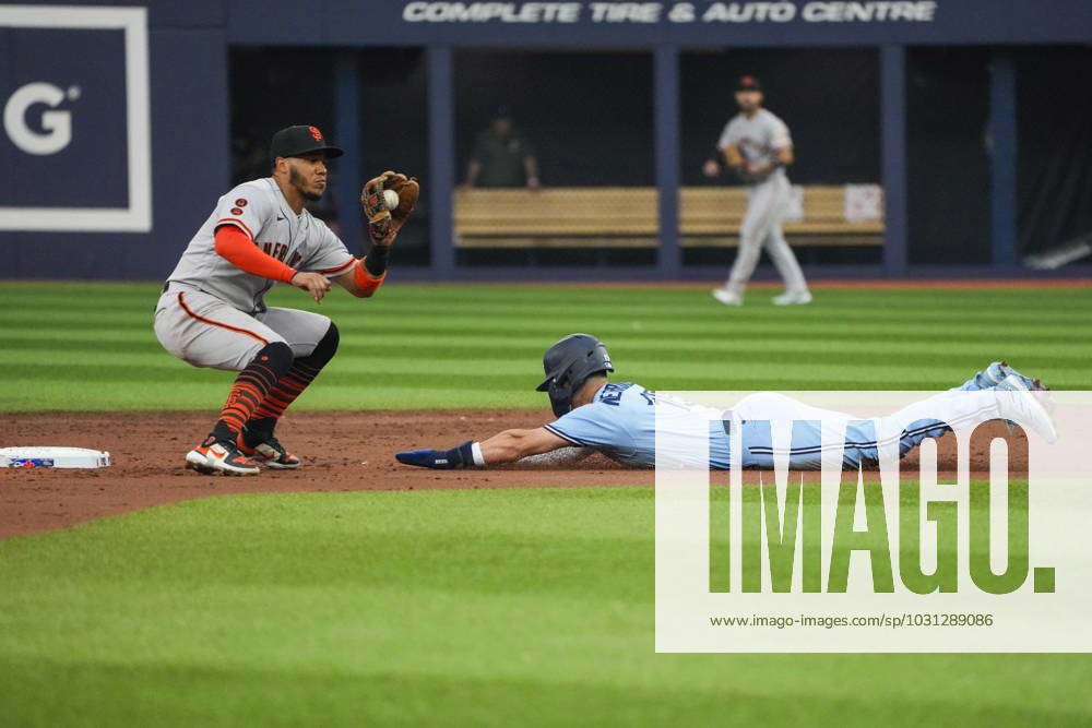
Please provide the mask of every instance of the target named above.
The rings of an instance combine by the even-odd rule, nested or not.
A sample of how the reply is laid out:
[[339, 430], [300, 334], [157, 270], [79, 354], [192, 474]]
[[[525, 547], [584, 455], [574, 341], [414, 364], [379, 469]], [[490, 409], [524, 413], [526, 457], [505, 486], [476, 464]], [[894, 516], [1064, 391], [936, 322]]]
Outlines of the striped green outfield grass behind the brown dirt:
[[[1092, 383], [1092, 290], [819, 290], [726, 308], [703, 289], [387, 286], [321, 306], [336, 358], [295, 405], [310, 409], [542, 407], [543, 350], [592, 333], [621, 379], [672, 390], [931, 390], [995, 359], [1055, 389]], [[0, 284], [0, 410], [209, 409], [232, 374], [195, 370], [152, 333], [156, 286]]]

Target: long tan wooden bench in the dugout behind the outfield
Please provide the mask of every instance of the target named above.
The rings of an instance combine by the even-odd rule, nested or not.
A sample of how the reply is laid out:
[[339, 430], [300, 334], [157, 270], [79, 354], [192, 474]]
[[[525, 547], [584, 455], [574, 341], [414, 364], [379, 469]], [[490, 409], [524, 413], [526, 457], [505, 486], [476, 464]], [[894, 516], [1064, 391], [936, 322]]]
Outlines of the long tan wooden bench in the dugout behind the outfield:
[[[461, 190], [455, 193], [460, 248], [655, 248], [655, 188], [548, 188]], [[784, 225], [794, 246], [879, 246], [883, 222], [845, 219], [842, 187], [804, 188], [804, 217]], [[681, 243], [738, 243], [746, 210], [740, 187], [684, 188]]]

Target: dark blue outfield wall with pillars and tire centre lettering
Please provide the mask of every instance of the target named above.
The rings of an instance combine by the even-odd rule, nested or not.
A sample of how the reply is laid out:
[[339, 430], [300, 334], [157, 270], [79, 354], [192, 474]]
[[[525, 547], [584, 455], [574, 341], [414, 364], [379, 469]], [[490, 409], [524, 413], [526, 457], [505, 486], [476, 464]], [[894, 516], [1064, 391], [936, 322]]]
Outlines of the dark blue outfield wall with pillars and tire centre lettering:
[[[170, 270], [229, 183], [232, 45], [429, 48], [432, 162], [430, 179], [423, 181], [434, 213], [430, 273], [436, 277], [459, 274], [449, 243], [453, 49], [654, 51], [656, 180], [661, 216], [670, 220], [677, 215], [681, 50], [880, 47], [885, 184], [889, 219], [895, 223], [883, 270], [899, 273], [905, 268], [906, 247], [900, 224], [906, 215], [905, 46], [1090, 38], [1088, 0], [0, 4], [0, 168], [9, 181], [0, 190], [0, 278], [156, 279]], [[1002, 135], [999, 147], [1014, 155], [1012, 74], [1000, 69], [992, 126]], [[358, 71], [340, 62], [330, 73], [337, 79], [331, 106], [340, 120], [358, 126]], [[1011, 262], [1014, 240], [1010, 172], [1011, 166], [999, 168], [993, 181], [994, 224], [1008, 226], [995, 230], [995, 260], [1002, 263]], [[681, 273], [675, 236], [665, 243], [661, 265], [650, 274], [675, 277]]]

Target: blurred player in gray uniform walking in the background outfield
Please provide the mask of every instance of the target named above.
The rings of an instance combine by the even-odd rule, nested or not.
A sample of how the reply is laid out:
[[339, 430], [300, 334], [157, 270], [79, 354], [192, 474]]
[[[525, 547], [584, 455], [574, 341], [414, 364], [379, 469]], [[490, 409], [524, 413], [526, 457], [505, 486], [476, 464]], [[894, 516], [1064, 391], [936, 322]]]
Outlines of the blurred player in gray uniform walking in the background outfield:
[[785, 175], [785, 167], [793, 163], [788, 127], [762, 108], [762, 86], [755, 76], [745, 75], [739, 80], [736, 104], [739, 114], [724, 127], [714, 158], [702, 167], [707, 177], [716, 177], [724, 162], [747, 184], [747, 214], [739, 228], [736, 262], [724, 286], [713, 289], [713, 297], [726, 306], [740, 306], [759, 253], [765, 248], [785, 282], [785, 293], [773, 302], [778, 306], [809, 303], [808, 284], [781, 230], [791, 195]]

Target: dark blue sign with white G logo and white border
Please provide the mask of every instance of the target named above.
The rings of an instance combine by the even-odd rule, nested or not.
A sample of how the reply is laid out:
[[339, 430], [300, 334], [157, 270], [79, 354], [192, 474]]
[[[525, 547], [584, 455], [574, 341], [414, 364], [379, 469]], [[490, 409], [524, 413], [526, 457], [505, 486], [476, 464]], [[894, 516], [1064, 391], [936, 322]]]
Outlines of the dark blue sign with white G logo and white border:
[[0, 232], [152, 227], [147, 11], [0, 4]]

